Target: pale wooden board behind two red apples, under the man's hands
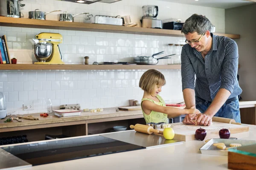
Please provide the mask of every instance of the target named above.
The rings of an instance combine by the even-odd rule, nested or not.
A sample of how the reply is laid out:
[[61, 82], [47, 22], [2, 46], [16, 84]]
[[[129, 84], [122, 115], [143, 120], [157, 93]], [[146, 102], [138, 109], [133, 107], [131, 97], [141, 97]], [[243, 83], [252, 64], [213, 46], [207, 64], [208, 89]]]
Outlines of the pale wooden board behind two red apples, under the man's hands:
[[[181, 141], [192, 141], [195, 139], [195, 130], [199, 129], [200, 127], [205, 129], [207, 131], [206, 138], [219, 138], [219, 130], [222, 128], [229, 129], [232, 134], [234, 133], [242, 133], [242, 132], [248, 132], [249, 127], [243, 126], [243, 125], [234, 125], [234, 124], [228, 124], [228, 123], [221, 123], [221, 122], [212, 122], [211, 126], [197, 126], [197, 125], [184, 125], [182, 122], [180, 123], [172, 123], [171, 125], [172, 129], [175, 132], [174, 139], [181, 140]], [[159, 133], [154, 133], [158, 136], [163, 136], [163, 129], [159, 130]]]

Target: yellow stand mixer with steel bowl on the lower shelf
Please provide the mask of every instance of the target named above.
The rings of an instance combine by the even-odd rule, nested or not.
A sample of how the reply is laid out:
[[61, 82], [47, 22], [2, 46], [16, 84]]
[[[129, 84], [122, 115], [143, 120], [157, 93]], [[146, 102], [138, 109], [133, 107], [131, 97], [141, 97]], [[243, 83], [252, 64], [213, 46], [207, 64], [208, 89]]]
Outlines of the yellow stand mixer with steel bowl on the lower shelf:
[[[40, 33], [33, 39], [35, 58], [34, 64], [65, 64], [61, 60], [58, 44], [62, 43], [62, 35], [58, 33]], [[53, 47], [52, 47], [53, 46]]]

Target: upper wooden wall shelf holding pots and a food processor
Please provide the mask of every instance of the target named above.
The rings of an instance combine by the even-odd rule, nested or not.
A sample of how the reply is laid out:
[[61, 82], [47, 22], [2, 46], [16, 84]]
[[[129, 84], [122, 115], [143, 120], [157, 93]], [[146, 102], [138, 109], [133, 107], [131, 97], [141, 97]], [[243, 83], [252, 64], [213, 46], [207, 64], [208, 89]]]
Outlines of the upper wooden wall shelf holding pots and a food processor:
[[[12, 18], [0, 17], [1, 26], [12, 27], [27, 27], [27, 28], [46, 28], [46, 29], [64, 29], [76, 31], [103, 31], [103, 32], [119, 32], [127, 34], [147, 34], [147, 35], [160, 35], [172, 37], [184, 37], [179, 30], [168, 29], [154, 29], [154, 28], [141, 28], [141, 27], [126, 27], [126, 26], [111, 26], [102, 24], [89, 24], [89, 23], [70, 23], [52, 20], [32, 20], [26, 18]], [[232, 39], [239, 39], [238, 34], [218, 34], [230, 37]]]

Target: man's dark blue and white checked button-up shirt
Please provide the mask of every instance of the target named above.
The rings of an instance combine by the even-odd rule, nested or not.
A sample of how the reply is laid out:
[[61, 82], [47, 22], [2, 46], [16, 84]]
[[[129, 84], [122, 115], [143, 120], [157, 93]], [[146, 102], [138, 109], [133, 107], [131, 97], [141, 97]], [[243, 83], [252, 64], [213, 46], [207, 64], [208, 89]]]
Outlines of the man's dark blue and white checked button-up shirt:
[[[218, 90], [230, 91], [228, 99], [241, 94], [237, 80], [238, 47], [234, 40], [212, 36], [212, 48], [203, 59], [201, 52], [189, 44], [181, 51], [182, 90], [195, 89], [195, 96], [212, 101]], [[196, 80], [195, 80], [196, 75]]]

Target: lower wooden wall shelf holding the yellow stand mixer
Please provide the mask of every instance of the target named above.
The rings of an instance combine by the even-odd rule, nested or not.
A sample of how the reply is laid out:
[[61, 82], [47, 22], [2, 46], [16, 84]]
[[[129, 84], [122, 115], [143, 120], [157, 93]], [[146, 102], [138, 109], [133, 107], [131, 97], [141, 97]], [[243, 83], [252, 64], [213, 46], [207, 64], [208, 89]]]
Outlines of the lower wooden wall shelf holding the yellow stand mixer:
[[180, 65], [47, 65], [47, 64], [0, 64], [0, 70], [148, 70], [180, 69]]

